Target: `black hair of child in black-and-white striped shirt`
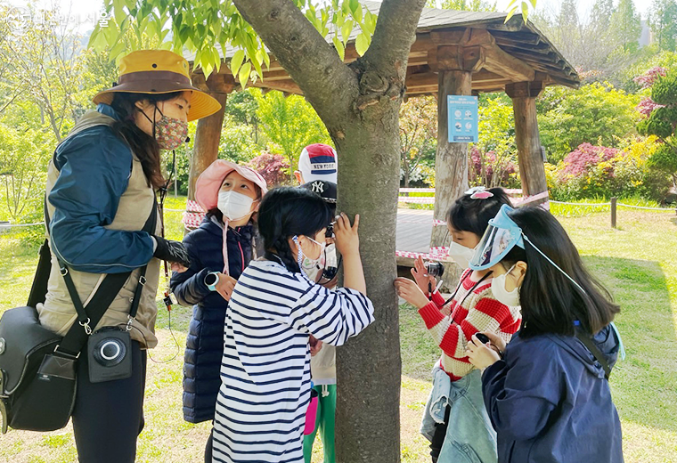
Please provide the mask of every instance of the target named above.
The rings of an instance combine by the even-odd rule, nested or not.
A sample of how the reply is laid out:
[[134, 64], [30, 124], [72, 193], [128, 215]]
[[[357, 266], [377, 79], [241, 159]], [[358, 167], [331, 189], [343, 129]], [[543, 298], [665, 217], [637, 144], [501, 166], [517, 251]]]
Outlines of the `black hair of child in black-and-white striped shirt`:
[[300, 188], [280, 187], [268, 191], [258, 209], [258, 231], [264, 239], [265, 257], [279, 257], [290, 272], [300, 272], [289, 239], [314, 238], [331, 223], [331, 213], [320, 196]]

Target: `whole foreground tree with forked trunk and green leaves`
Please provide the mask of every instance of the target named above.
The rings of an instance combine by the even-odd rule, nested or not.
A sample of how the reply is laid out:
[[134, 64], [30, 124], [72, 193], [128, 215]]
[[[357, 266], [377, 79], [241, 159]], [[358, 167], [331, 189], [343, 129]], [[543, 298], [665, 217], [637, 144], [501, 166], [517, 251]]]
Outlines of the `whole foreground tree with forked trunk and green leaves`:
[[[338, 207], [362, 215], [361, 251], [375, 303], [373, 326], [338, 350], [337, 456], [350, 463], [400, 460], [401, 360], [392, 285], [395, 233], [390, 231], [396, 226], [399, 184], [398, 115], [423, 4], [384, 0], [376, 20], [356, 0], [322, 7], [305, 0], [112, 0], [119, 31], [109, 25], [92, 39], [114, 44], [128, 28], [151, 35], [171, 29], [173, 48], [194, 51], [206, 74], [220, 65], [216, 45], [222, 52], [231, 45], [237, 52], [230, 67], [241, 83], [252, 69], [261, 74], [269, 60], [265, 43], [322, 118], [340, 158]], [[363, 54], [346, 64], [340, 45], [355, 24], [362, 28], [355, 45]], [[340, 31], [333, 46], [323, 37], [330, 27]]]

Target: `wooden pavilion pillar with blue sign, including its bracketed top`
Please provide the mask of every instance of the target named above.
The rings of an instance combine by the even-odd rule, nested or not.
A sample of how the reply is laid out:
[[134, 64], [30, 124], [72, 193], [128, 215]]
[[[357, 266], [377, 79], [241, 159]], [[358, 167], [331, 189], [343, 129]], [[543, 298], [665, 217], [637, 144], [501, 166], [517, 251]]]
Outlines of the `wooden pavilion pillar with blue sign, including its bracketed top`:
[[[468, 33], [459, 37], [459, 43]], [[445, 43], [454, 37], [446, 36]], [[455, 201], [468, 190], [468, 143], [450, 143], [447, 114], [447, 95], [469, 95], [472, 92], [472, 73], [481, 68], [484, 54], [479, 46], [440, 45], [436, 48], [434, 63], [437, 70], [437, 150], [435, 156], [435, 218], [446, 220]], [[442, 246], [446, 227], [434, 226], [430, 246]], [[447, 239], [448, 241], [448, 239]]]

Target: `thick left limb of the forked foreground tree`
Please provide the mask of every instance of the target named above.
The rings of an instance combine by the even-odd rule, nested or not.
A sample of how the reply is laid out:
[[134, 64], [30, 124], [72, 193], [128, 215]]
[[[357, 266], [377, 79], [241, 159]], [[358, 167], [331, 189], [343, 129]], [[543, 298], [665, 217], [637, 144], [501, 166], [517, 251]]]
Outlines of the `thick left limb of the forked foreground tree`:
[[[420, 1], [420, 0], [417, 0]], [[233, 0], [326, 123], [346, 114], [357, 77], [290, 0]], [[328, 91], [329, 90], [329, 91]]]

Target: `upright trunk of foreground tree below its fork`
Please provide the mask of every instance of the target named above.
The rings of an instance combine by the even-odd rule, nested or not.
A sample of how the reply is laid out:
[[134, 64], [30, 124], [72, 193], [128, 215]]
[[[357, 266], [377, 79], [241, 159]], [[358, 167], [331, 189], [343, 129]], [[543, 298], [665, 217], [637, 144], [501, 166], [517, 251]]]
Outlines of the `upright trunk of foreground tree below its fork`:
[[[355, 121], [335, 139], [338, 210], [360, 214], [360, 251], [376, 321], [337, 349], [337, 459], [396, 463], [400, 459], [400, 338], [395, 231], [399, 189], [399, 102]], [[371, 119], [371, 120], [370, 120]]]

